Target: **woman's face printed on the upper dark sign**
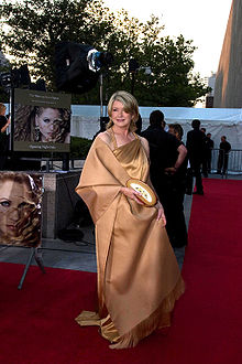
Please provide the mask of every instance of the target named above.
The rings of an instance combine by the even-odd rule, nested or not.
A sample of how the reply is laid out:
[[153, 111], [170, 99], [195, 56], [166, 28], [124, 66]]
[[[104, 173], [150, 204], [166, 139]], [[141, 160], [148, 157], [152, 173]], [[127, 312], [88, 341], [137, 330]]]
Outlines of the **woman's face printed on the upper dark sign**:
[[41, 131], [41, 141], [53, 141], [62, 121], [58, 109], [44, 108], [36, 115], [35, 124]]

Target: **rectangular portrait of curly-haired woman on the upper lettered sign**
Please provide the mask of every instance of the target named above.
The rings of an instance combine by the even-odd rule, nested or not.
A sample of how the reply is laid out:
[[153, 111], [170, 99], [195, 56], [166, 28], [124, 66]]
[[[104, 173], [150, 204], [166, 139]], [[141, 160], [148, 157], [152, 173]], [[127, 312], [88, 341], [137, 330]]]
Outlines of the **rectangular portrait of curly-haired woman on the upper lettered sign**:
[[70, 110], [19, 105], [14, 122], [15, 141], [70, 142]]

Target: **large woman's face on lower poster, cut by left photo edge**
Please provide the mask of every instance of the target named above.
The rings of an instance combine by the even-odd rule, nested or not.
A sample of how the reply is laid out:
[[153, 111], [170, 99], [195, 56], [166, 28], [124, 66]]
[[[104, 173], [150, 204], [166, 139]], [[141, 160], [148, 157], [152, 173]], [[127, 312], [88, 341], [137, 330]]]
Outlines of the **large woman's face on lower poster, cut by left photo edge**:
[[0, 184], [0, 234], [18, 236], [18, 222], [26, 206], [28, 186], [25, 183], [4, 181]]

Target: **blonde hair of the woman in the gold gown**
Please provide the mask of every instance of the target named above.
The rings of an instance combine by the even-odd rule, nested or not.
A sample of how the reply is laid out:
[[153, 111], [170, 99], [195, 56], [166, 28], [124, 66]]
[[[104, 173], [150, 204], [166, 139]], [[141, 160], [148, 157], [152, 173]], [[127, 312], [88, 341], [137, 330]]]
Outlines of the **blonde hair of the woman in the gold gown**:
[[108, 104], [109, 122], [107, 124], [107, 129], [109, 129], [113, 126], [111, 116], [112, 116], [112, 105], [114, 101], [120, 101], [124, 107], [124, 111], [132, 115], [132, 120], [131, 120], [129, 130], [135, 131], [136, 130], [135, 122], [139, 119], [138, 100], [135, 99], [135, 97], [133, 95], [131, 95], [130, 93], [124, 92], [124, 90], [118, 90], [110, 97], [110, 100]]

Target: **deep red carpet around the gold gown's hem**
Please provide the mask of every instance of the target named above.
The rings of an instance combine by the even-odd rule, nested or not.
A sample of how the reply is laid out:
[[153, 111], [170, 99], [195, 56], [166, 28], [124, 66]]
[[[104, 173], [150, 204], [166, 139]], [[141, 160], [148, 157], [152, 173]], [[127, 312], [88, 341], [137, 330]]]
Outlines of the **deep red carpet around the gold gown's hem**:
[[92, 309], [96, 275], [0, 264], [0, 363], [239, 364], [242, 362], [242, 181], [206, 180], [193, 203], [173, 326], [139, 346], [112, 351], [97, 328], [74, 318]]

